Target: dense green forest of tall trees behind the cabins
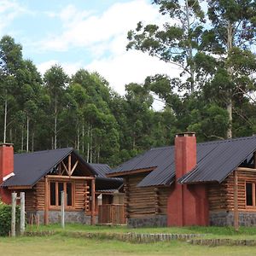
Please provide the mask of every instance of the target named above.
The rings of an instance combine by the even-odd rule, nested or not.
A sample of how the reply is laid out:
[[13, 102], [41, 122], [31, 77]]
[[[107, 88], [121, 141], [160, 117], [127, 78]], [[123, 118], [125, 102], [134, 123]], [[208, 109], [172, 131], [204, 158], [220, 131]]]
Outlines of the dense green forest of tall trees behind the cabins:
[[[183, 4], [182, 4], [182, 3]], [[256, 133], [254, 1], [157, 1], [162, 26], [138, 22], [127, 50], [177, 65], [126, 84], [119, 96], [99, 73], [68, 77], [60, 65], [41, 76], [14, 38], [0, 41], [0, 140], [16, 152], [74, 147], [88, 162], [116, 166], [180, 131], [197, 141]], [[173, 20], [176, 20], [173, 22]], [[118, 72], [116, 73], [118, 76]], [[164, 103], [155, 111], [154, 100]]]

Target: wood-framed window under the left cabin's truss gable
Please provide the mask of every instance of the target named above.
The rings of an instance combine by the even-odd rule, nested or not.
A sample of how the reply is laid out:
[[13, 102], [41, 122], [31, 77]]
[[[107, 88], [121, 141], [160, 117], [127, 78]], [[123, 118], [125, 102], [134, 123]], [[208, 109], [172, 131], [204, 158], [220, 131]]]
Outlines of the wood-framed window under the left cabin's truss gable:
[[66, 207], [73, 207], [73, 183], [50, 182], [50, 207], [61, 207], [61, 191], [65, 191]]

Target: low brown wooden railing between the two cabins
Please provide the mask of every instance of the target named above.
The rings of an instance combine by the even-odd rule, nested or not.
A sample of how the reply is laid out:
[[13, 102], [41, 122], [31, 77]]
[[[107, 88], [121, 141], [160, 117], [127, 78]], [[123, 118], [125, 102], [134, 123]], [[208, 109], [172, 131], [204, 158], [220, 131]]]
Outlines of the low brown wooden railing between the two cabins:
[[101, 205], [98, 213], [99, 224], [126, 224], [124, 205]]

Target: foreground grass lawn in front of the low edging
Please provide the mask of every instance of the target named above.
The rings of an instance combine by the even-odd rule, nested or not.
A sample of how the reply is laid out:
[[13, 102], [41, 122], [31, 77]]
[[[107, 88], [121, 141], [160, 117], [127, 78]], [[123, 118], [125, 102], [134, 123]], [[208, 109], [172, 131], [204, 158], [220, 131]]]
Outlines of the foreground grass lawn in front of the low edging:
[[124, 241], [46, 237], [0, 237], [1, 255], [254, 255], [256, 247], [205, 247], [182, 241], [134, 244]]

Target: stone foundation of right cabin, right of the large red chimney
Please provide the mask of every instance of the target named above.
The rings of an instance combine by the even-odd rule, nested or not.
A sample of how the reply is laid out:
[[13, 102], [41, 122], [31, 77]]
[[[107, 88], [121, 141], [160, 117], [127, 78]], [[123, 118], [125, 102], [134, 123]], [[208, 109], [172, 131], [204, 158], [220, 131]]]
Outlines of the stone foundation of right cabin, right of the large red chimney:
[[[210, 212], [211, 226], [234, 226], [234, 212]], [[239, 212], [239, 225], [256, 226], [256, 212]]]

